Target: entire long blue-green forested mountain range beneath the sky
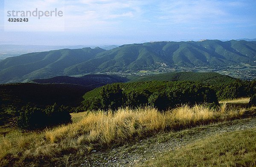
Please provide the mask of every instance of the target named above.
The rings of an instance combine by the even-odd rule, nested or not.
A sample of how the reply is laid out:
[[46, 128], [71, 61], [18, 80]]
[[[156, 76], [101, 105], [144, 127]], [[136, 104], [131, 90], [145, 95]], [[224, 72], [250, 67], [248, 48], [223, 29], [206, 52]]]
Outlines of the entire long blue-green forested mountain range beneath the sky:
[[176, 67], [256, 65], [256, 41], [201, 40], [35, 52], [0, 61], [0, 83], [27, 82], [59, 75], [131, 73]]

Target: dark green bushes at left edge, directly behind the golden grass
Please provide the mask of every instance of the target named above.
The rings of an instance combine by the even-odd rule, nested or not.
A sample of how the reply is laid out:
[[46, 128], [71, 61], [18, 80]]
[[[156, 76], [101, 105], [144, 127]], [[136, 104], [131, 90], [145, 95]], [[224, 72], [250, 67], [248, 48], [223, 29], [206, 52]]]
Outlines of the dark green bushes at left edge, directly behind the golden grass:
[[9, 106], [0, 108], [0, 126], [19, 128], [20, 130], [42, 130], [71, 122], [68, 107], [47, 106], [45, 108], [31, 107], [26, 105], [17, 109]]

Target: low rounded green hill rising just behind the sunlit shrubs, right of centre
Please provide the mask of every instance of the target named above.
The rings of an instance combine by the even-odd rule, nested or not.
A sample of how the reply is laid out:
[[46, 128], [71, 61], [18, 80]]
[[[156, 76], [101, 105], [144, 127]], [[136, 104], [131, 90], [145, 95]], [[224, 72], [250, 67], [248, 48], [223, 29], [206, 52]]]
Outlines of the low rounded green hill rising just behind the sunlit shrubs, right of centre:
[[130, 82], [145, 81], [194, 81], [208, 84], [218, 84], [237, 81], [238, 79], [221, 75], [216, 72], [169, 72], [159, 75], [151, 75], [136, 78]]

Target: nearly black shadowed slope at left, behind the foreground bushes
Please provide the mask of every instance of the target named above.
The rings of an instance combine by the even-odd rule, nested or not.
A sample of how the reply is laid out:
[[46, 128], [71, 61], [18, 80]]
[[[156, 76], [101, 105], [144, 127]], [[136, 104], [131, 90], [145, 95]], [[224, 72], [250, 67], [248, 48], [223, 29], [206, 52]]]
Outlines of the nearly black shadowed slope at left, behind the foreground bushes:
[[0, 85], [0, 102], [1, 105], [15, 107], [26, 104], [47, 106], [54, 103], [76, 107], [82, 101], [82, 95], [90, 90], [90, 87], [72, 84], [4, 84]]

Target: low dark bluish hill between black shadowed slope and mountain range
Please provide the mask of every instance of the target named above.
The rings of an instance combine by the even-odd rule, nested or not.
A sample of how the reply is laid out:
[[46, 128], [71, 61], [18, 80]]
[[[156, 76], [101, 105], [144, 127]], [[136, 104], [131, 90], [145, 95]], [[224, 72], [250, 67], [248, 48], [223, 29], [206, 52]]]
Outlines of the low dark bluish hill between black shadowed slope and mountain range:
[[82, 77], [69, 77], [69, 76], [58, 76], [49, 79], [35, 79], [32, 83], [69, 83], [81, 86], [90, 86], [92, 88], [103, 86], [109, 83], [127, 82], [128, 79], [125, 77], [119, 77], [116, 75], [103, 75], [103, 74], [92, 74], [84, 75]]

